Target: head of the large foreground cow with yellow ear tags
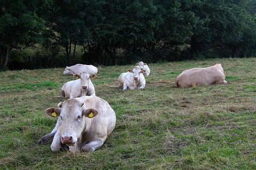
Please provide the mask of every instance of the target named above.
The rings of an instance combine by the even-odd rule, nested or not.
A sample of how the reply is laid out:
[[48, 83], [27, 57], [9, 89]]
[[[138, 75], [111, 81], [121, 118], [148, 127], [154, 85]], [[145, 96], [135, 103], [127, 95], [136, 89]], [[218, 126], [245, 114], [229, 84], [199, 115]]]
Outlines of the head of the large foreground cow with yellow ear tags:
[[68, 99], [59, 104], [60, 108], [49, 108], [46, 110], [48, 116], [60, 117], [61, 125], [58, 132], [61, 134], [61, 142], [68, 145], [76, 145], [77, 139], [81, 137], [85, 128], [85, 119], [97, 116], [98, 111], [83, 107], [76, 99]]

